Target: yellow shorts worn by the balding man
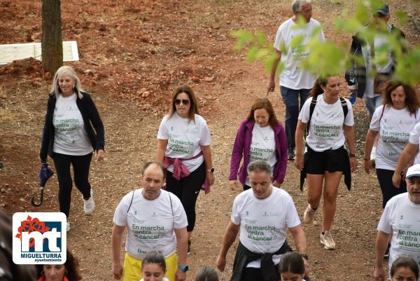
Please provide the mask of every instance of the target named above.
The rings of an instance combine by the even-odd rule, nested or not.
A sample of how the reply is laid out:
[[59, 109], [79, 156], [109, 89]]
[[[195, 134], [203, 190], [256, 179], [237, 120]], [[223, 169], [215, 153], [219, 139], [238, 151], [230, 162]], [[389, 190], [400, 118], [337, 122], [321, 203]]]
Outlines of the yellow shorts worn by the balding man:
[[[178, 257], [172, 254], [165, 259], [167, 264], [167, 273], [165, 277], [169, 281], [175, 281], [175, 273], [178, 269]], [[125, 254], [123, 281], [139, 281], [141, 280], [141, 259], [134, 258], [130, 254]]]

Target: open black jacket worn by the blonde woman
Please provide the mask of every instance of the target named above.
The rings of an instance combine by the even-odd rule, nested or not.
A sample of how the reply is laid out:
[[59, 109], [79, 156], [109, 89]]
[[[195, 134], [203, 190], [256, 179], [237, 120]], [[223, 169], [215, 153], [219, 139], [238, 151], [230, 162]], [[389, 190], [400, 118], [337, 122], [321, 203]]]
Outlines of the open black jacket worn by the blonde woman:
[[[76, 104], [82, 114], [87, 137], [89, 137], [90, 143], [95, 151], [98, 149], [104, 149], [104, 124], [102, 123], [92, 97], [90, 97], [87, 92], [81, 93], [83, 98], [80, 99], [77, 96]], [[47, 154], [52, 157], [52, 146], [54, 146], [55, 134], [55, 128], [54, 125], [52, 125], [52, 116], [54, 114], [55, 102], [57, 102], [57, 98], [54, 93], [51, 93], [48, 97], [47, 113], [45, 114], [45, 124], [42, 132], [41, 151], [39, 151], [39, 157], [43, 162], [47, 160]]]

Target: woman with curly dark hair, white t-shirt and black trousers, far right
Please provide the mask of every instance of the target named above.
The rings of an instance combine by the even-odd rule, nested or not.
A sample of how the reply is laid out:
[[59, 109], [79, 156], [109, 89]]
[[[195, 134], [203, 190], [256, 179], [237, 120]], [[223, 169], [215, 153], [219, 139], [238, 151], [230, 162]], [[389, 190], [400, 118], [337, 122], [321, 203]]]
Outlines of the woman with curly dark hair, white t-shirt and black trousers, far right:
[[[420, 121], [419, 100], [414, 88], [389, 81], [382, 90], [382, 105], [372, 116], [365, 141], [364, 167], [367, 174], [372, 170], [370, 152], [374, 139], [379, 134], [375, 167], [382, 191], [382, 207], [389, 199], [407, 192], [405, 180], [400, 177], [398, 186], [393, 186], [392, 177], [398, 158], [409, 142], [409, 132]], [[413, 154], [414, 155], [414, 154]], [[406, 163], [407, 164], [407, 163]], [[401, 174], [401, 170], [398, 171]]]

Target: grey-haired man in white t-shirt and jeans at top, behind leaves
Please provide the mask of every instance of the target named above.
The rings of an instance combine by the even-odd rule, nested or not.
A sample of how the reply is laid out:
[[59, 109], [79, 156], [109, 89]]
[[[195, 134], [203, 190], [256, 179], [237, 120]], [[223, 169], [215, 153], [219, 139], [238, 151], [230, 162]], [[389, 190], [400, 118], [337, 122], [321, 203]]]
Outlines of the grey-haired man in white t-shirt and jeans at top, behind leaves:
[[[269, 75], [268, 92], [273, 92], [275, 88], [276, 69], [279, 62], [284, 64], [283, 71], [280, 74], [280, 92], [283, 102], [286, 105], [286, 136], [288, 142], [288, 159], [295, 158], [295, 131], [297, 125], [297, 116], [307, 99], [311, 88], [314, 86], [316, 77], [309, 71], [300, 67], [300, 62], [310, 53], [307, 44], [311, 36], [316, 33], [319, 41], [325, 41], [323, 31], [319, 22], [311, 18], [312, 5], [310, 0], [293, 0], [293, 17], [283, 22], [276, 34], [274, 48], [278, 55], [274, 61]], [[306, 24], [298, 25], [302, 18]], [[297, 46], [292, 46], [294, 38], [302, 36], [302, 41]], [[299, 102], [300, 97], [300, 102]], [[299, 106], [300, 105], [300, 106]]]

